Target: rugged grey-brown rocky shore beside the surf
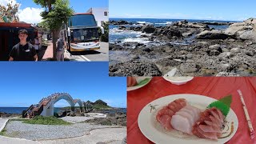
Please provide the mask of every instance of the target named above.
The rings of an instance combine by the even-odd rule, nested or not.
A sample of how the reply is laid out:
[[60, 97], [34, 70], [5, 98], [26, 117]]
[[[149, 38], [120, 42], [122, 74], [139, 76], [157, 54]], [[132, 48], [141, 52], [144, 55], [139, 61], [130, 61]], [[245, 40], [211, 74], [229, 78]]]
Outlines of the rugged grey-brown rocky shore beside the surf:
[[256, 75], [255, 18], [234, 23], [183, 20], [168, 26], [111, 23], [119, 30], [141, 31], [141, 38], [160, 44], [110, 43], [110, 76], [162, 76], [174, 68], [174, 76]]

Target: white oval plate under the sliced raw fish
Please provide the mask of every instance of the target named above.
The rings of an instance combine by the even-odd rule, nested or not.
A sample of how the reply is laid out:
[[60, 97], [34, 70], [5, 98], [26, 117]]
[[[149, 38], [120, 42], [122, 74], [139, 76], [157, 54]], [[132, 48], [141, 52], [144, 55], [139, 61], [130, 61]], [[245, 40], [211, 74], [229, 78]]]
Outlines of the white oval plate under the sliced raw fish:
[[[192, 106], [196, 106], [199, 109], [206, 109], [211, 102], [216, 101], [214, 98], [209, 98], [206, 96], [198, 95], [198, 94], [174, 94], [166, 97], [158, 98], [153, 102], [147, 104], [140, 114], [138, 115], [138, 127], [142, 131], [142, 134], [146, 136], [146, 138], [150, 139], [150, 141], [158, 144], [167, 144], [167, 143], [190, 143], [190, 144], [199, 144], [199, 143], [225, 143], [230, 140], [238, 130], [238, 118], [234, 111], [230, 109], [229, 114], [226, 116], [227, 122], [234, 122], [234, 131], [227, 138], [218, 138], [218, 141], [206, 139], [206, 138], [198, 138], [196, 136], [187, 136], [184, 137], [184, 134], [179, 134], [177, 130], [171, 130], [172, 132], [166, 132], [163, 130], [162, 126], [156, 121], [156, 113], [163, 106], [166, 106], [170, 102], [173, 102], [175, 99], [185, 98], [187, 102]], [[151, 110], [150, 106], [154, 106], [156, 109]], [[182, 136], [182, 137], [181, 137]]]

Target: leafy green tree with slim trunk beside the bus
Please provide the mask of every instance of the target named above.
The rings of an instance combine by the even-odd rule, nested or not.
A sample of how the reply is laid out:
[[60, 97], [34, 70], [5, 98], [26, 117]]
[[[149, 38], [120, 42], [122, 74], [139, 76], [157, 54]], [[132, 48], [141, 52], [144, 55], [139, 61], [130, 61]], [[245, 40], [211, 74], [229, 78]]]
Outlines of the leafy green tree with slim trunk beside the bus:
[[53, 55], [54, 59], [56, 59], [58, 34], [63, 22], [67, 22], [68, 18], [74, 14], [74, 10], [70, 8], [69, 0], [34, 0], [34, 2], [46, 8], [46, 10], [41, 13], [43, 19], [42, 23], [49, 28], [53, 34]]

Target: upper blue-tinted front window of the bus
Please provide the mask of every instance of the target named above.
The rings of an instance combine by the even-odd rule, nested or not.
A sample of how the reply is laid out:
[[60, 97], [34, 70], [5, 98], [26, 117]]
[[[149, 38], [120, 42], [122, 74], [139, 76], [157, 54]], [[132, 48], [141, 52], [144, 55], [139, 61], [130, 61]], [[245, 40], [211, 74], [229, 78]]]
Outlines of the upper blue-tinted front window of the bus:
[[69, 26], [97, 26], [94, 15], [79, 14], [73, 15], [69, 19]]

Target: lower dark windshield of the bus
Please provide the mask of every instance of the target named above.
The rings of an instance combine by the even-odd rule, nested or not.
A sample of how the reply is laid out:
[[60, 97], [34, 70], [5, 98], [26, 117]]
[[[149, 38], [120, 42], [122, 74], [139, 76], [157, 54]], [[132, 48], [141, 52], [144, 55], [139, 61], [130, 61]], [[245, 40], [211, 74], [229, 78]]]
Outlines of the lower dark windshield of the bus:
[[87, 28], [73, 30], [70, 40], [74, 42], [90, 42], [98, 39], [98, 29]]

